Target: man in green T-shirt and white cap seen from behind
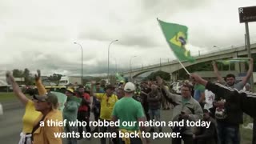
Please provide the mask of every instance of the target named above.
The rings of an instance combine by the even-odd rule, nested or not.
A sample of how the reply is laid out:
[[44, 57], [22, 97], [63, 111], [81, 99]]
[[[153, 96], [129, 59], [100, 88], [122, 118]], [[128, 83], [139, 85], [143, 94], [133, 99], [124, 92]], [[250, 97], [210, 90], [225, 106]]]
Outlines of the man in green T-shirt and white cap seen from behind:
[[[135, 86], [132, 82], [127, 82], [124, 87], [125, 96], [121, 98], [114, 105], [114, 110], [112, 113], [112, 120], [114, 122], [120, 121], [119, 133], [122, 134], [136, 134], [141, 131], [146, 131], [146, 127], [138, 126], [138, 122], [145, 122], [146, 117], [142, 109], [142, 104], [134, 100]], [[130, 126], [125, 126], [125, 124], [132, 124]], [[142, 135], [140, 134], [139, 138], [120, 138], [121, 143], [126, 144], [142, 144]], [[146, 139], [146, 142], [149, 141]]]

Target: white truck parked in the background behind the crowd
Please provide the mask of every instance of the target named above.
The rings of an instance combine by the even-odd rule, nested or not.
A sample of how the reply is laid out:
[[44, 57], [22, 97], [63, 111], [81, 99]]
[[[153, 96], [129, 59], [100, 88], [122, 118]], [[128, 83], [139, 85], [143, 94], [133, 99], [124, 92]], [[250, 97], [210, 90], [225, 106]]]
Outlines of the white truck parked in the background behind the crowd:
[[59, 80], [58, 86], [67, 86], [67, 85], [81, 85], [81, 77], [79, 76], [62, 76]]

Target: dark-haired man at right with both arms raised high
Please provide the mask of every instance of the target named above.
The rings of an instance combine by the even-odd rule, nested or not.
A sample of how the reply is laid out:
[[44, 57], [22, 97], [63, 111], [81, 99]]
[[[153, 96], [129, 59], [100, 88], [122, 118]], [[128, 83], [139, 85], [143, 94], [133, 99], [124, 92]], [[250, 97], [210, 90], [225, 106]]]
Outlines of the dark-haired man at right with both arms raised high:
[[[227, 74], [226, 81], [221, 77], [218, 72], [218, 66], [213, 62], [214, 73], [218, 77], [218, 81], [225, 86], [234, 88], [236, 90], [242, 90], [253, 72], [254, 60], [250, 58], [249, 70], [246, 77], [242, 78], [241, 82], [235, 83], [234, 74]], [[242, 110], [230, 102], [226, 102], [226, 99], [220, 98], [222, 95], [216, 95], [214, 106], [216, 107], [215, 118], [218, 123], [218, 140], [220, 144], [226, 143], [240, 143], [239, 125], [243, 123]]]

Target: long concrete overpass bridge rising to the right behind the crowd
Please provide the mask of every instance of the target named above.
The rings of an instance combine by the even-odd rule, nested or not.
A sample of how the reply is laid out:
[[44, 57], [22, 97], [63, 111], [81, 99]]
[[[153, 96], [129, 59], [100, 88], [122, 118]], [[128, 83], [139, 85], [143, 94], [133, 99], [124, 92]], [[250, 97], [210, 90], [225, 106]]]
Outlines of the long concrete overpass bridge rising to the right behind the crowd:
[[[256, 54], [256, 43], [250, 45], [251, 49], [251, 54]], [[245, 46], [238, 46], [238, 47], [233, 47], [228, 50], [221, 50], [221, 51], [215, 51], [210, 54], [204, 54], [204, 55], [199, 55], [197, 57], [194, 57], [196, 59], [195, 62], [182, 62], [182, 64], [186, 66], [197, 66], [198, 63], [202, 62], [211, 62], [214, 60], [219, 60], [219, 59], [225, 59], [225, 58], [238, 58], [239, 56], [242, 55], [247, 55], [247, 50]], [[170, 73], [170, 78], [175, 81], [177, 80], [177, 74], [175, 73], [176, 71], [182, 69], [182, 66], [180, 66], [178, 60], [174, 60], [171, 62], [164, 62], [155, 65], [150, 65], [150, 66], [145, 66], [142, 68], [137, 68], [131, 71], [125, 71], [121, 72], [124, 77], [127, 78], [136, 78], [140, 74], [144, 74], [146, 72], [155, 72], [158, 70], [164, 71], [166, 73]], [[241, 63], [235, 63], [235, 71], [244, 71], [245, 70], [245, 64]]]

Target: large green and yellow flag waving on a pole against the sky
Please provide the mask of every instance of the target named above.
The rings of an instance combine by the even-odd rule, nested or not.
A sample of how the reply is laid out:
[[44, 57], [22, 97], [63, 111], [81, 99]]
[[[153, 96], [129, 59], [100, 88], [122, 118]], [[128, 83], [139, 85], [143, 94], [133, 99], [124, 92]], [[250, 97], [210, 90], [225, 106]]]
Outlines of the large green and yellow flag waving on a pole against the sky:
[[162, 22], [158, 19], [162, 33], [166, 37], [170, 49], [180, 61], [194, 62], [194, 58], [190, 55], [190, 50], [186, 50], [187, 30], [186, 26], [175, 23]]

